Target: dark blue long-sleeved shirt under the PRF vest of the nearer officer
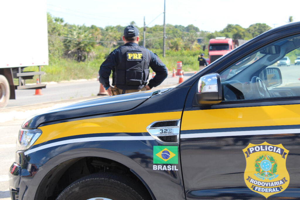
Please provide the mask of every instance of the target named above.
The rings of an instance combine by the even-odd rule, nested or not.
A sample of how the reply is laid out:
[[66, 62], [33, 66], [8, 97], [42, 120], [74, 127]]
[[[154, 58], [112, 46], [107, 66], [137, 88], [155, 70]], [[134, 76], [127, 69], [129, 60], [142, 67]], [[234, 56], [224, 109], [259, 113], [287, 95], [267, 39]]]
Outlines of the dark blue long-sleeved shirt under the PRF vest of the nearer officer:
[[[128, 42], [125, 44], [125, 46], [126, 45], [138, 46], [138, 44], [134, 42]], [[151, 57], [149, 66], [156, 73], [155, 77], [150, 79], [148, 83], [148, 86], [152, 88], [158, 86], [165, 80], [165, 78], [167, 78], [168, 71], [166, 65], [161, 61], [161, 59], [159, 59], [159, 57], [155, 53], [148, 49], [146, 50], [149, 52], [149, 55]], [[105, 89], [108, 89], [108, 87], [110, 86], [109, 77], [111, 71], [119, 65], [119, 53], [119, 48], [113, 50], [113, 52], [110, 53], [107, 59], [100, 66], [99, 82], [103, 84]]]

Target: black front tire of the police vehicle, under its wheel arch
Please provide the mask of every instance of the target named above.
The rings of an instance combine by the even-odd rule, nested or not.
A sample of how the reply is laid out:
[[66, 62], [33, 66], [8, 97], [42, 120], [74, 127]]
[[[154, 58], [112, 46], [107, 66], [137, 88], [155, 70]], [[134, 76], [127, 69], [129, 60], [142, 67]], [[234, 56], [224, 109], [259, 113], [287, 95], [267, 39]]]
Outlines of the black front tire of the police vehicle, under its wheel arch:
[[147, 192], [144, 187], [128, 177], [114, 173], [98, 173], [71, 183], [56, 200], [87, 200], [97, 197], [113, 200], [148, 200]]

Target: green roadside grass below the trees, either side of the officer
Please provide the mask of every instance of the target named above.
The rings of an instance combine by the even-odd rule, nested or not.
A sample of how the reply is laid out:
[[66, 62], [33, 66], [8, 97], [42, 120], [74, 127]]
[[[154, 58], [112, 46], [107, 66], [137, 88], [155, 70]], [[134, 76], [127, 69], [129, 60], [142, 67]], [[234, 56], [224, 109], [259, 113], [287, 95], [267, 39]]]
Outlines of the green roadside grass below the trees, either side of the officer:
[[[60, 82], [62, 80], [78, 80], [78, 79], [91, 79], [98, 77], [99, 67], [108, 56], [108, 48], [96, 47], [96, 53], [93, 59], [86, 60], [85, 62], [77, 62], [67, 58], [53, 58], [49, 56], [49, 65], [42, 66], [41, 71], [46, 74], [42, 75], [42, 82]], [[162, 50], [152, 50], [157, 53], [162, 62], [167, 66], [169, 71], [176, 70], [177, 61], [182, 61], [183, 71], [198, 70], [198, 51], [167, 51], [166, 56], [162, 56]], [[30, 66], [24, 71], [38, 71], [37, 66]], [[152, 70], [150, 68], [152, 73]], [[32, 80], [26, 80], [26, 83], [36, 83], [38, 76]], [[14, 80], [18, 84], [18, 80]]]

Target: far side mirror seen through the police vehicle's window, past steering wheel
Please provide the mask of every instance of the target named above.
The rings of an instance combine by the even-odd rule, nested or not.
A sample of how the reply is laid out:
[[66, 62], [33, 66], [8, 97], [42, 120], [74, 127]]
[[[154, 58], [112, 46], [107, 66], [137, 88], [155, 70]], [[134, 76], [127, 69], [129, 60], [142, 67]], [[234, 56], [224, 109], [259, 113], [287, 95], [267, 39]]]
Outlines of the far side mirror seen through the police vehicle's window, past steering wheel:
[[276, 87], [282, 84], [282, 76], [280, 69], [277, 67], [268, 67], [265, 68], [261, 74], [260, 77], [266, 84], [266, 86], [269, 87]]

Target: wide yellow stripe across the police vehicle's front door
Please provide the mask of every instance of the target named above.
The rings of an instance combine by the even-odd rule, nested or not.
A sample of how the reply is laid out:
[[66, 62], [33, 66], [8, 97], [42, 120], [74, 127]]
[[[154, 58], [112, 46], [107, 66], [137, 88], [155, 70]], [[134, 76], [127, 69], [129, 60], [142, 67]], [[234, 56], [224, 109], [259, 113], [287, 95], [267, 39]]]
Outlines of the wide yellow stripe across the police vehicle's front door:
[[181, 130], [300, 124], [300, 105], [184, 111]]

